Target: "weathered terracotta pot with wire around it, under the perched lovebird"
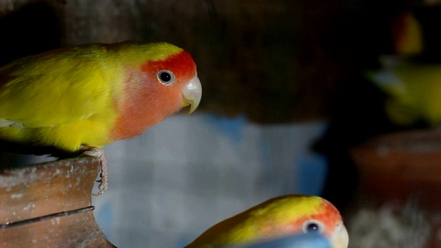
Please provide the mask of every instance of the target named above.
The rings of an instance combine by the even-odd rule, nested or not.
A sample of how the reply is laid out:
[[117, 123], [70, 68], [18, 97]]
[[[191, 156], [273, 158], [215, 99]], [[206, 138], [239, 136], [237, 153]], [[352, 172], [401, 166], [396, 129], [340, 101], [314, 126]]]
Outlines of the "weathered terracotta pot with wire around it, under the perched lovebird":
[[0, 246], [114, 247], [92, 212], [98, 173], [94, 157], [0, 172]]

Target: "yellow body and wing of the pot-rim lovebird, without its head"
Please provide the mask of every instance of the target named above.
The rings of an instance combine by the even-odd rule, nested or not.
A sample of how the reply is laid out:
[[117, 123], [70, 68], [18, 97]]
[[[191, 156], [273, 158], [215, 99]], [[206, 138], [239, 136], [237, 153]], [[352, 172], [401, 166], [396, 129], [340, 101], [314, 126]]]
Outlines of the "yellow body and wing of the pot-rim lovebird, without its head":
[[[88, 141], [99, 147], [108, 143], [105, 132], [114, 121], [121, 69], [112, 60], [101, 61], [104, 50], [101, 45], [62, 48], [0, 68], [0, 119], [14, 123], [0, 127], [0, 138], [68, 151]], [[112, 74], [105, 73], [109, 69]], [[23, 127], [14, 127], [17, 123]]]

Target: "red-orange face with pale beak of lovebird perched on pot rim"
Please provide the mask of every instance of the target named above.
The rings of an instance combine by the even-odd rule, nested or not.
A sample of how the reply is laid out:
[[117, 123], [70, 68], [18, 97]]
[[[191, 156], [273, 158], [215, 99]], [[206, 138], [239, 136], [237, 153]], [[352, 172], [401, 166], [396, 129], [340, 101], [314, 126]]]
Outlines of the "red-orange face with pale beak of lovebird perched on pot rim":
[[115, 140], [137, 136], [183, 106], [193, 104], [194, 110], [201, 99], [196, 64], [183, 50], [129, 71], [122, 113], [113, 132]]

